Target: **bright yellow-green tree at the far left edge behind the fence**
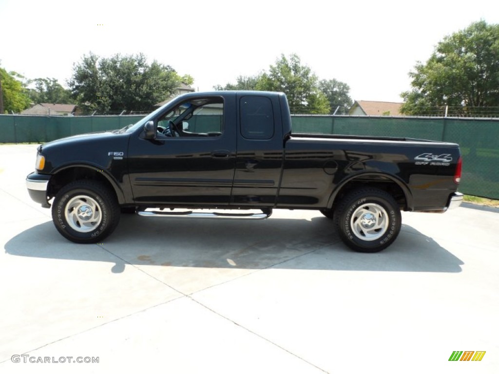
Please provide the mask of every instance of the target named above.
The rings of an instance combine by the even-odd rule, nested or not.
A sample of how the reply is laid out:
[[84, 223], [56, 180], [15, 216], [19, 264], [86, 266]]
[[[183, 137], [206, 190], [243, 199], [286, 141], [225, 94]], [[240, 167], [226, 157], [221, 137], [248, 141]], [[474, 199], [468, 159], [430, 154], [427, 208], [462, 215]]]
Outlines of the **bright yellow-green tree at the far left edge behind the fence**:
[[2, 90], [3, 112], [19, 113], [29, 108], [30, 100], [26, 89], [19, 79], [24, 78], [15, 71], [7, 72], [0, 67], [0, 81]]

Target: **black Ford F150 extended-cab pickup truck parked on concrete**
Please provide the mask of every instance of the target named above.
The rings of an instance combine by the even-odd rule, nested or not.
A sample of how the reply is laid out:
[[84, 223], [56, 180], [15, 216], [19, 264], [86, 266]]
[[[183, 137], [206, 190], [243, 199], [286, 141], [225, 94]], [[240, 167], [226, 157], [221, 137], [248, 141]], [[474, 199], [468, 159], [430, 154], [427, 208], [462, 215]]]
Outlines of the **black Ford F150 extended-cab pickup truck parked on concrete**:
[[122, 212], [258, 219], [316, 209], [349, 247], [377, 252], [397, 237], [401, 210], [459, 206], [460, 179], [457, 144], [294, 134], [283, 93], [218, 91], [41, 145], [26, 184], [77, 243], [101, 242]]

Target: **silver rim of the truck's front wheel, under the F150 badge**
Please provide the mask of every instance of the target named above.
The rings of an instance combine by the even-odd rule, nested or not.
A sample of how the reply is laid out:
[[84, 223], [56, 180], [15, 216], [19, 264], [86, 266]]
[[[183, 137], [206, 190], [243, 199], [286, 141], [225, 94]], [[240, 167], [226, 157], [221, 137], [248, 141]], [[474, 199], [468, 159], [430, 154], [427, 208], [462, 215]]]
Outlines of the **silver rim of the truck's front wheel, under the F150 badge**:
[[102, 220], [101, 207], [92, 197], [77, 195], [66, 204], [64, 217], [68, 225], [78, 232], [97, 228]]

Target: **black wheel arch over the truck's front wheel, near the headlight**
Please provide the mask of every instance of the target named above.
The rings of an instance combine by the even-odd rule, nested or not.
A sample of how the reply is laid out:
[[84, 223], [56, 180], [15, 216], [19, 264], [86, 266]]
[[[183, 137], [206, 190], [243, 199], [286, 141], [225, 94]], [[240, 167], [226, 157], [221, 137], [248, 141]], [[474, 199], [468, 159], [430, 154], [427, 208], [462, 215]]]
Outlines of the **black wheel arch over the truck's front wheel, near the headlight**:
[[68, 165], [53, 172], [48, 183], [47, 195], [51, 198], [55, 196], [62, 187], [78, 180], [99, 181], [105, 186], [110, 187], [119, 204], [125, 203], [125, 195], [116, 180], [105, 170], [86, 164]]

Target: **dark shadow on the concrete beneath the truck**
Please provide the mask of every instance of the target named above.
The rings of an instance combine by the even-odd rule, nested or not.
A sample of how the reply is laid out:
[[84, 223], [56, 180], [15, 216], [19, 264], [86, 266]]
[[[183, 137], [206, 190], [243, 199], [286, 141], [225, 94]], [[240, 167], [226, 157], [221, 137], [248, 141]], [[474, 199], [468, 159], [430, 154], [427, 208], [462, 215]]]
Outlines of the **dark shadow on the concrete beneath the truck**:
[[114, 273], [127, 265], [413, 272], [460, 272], [463, 265], [408, 225], [402, 225], [395, 243], [382, 252], [351, 251], [325, 217], [242, 221], [124, 214], [116, 231], [104, 243], [93, 245], [66, 240], [49, 221], [12, 237], [5, 251], [15, 256], [110, 262]]

